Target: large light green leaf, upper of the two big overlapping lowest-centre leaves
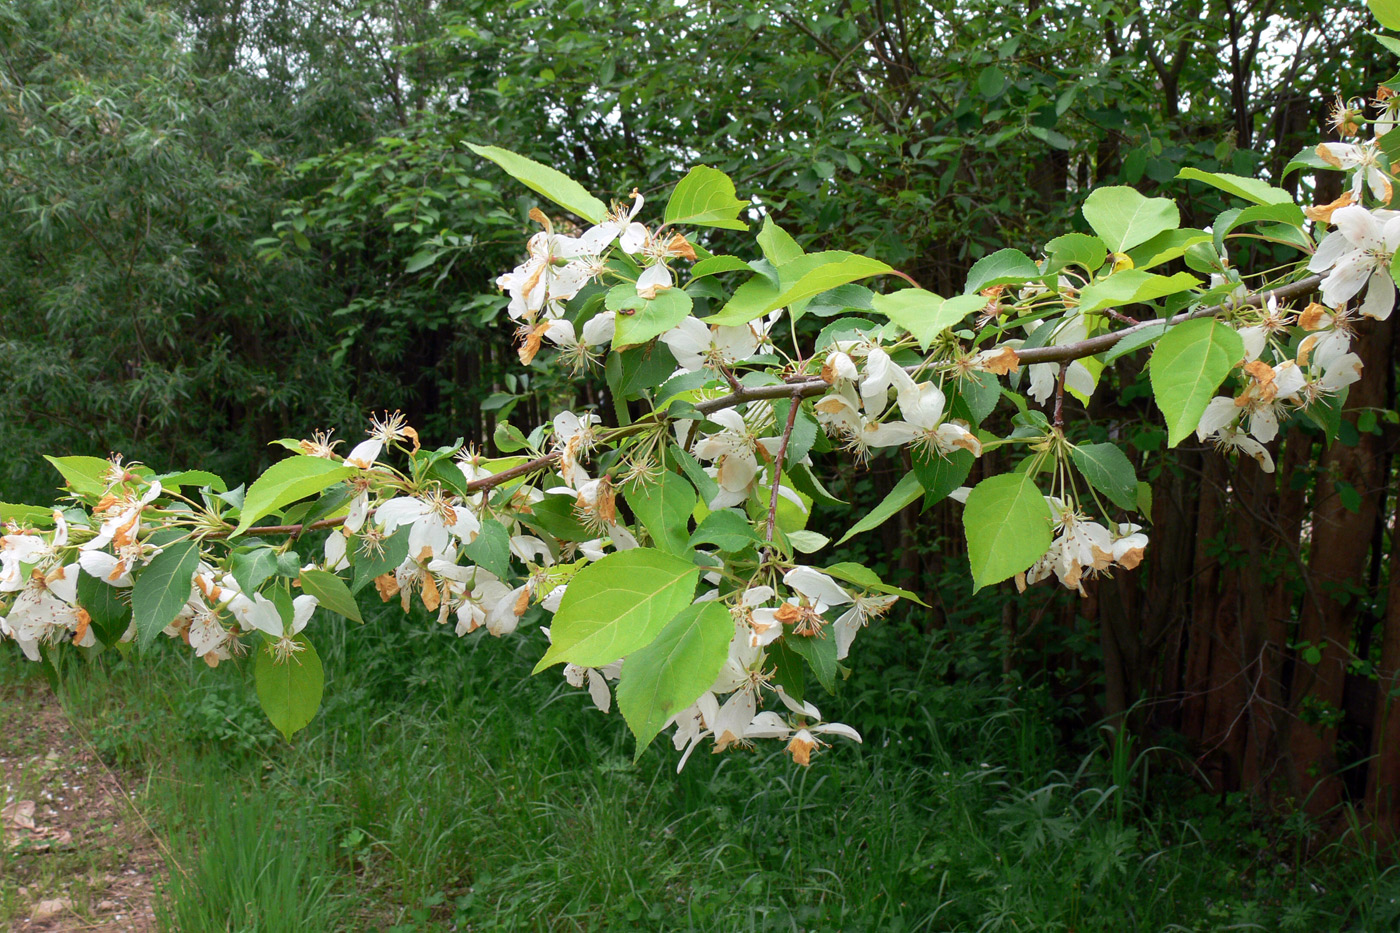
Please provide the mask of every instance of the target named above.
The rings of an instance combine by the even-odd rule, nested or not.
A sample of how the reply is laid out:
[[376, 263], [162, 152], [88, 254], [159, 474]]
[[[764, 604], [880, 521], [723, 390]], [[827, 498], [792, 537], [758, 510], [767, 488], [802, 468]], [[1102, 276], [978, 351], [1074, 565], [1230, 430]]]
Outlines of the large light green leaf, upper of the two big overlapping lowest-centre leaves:
[[617, 551], [580, 570], [550, 625], [535, 672], [571, 661], [602, 667], [631, 654], [690, 605], [700, 569], [654, 548]]

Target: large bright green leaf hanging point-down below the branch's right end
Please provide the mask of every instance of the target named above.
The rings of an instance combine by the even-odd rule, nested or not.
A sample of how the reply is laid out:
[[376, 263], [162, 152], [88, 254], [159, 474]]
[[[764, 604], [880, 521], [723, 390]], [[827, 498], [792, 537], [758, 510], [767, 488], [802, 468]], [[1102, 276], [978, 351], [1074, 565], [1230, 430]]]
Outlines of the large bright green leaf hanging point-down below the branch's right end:
[[1156, 406], [1166, 417], [1168, 447], [1196, 430], [1215, 389], [1243, 357], [1239, 333], [1212, 318], [1186, 321], [1162, 335], [1148, 375]]

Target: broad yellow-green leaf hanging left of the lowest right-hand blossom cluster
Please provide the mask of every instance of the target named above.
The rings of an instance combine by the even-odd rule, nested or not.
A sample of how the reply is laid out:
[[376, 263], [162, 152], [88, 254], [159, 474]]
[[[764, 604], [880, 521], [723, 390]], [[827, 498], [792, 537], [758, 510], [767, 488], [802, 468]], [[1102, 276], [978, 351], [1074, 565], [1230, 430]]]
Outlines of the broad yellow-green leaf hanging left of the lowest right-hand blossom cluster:
[[1028, 569], [1050, 549], [1050, 506], [1025, 474], [1000, 474], [967, 495], [963, 530], [976, 590]]

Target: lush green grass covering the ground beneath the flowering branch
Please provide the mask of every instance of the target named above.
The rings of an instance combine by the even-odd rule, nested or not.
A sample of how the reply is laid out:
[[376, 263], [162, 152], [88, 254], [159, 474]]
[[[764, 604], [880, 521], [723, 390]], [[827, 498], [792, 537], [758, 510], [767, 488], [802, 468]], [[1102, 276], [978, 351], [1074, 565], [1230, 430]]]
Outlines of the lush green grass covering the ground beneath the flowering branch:
[[945, 684], [895, 626], [869, 632], [874, 663], [840, 698], [813, 698], [864, 745], [809, 769], [697, 755], [680, 775], [668, 742], [633, 763], [616, 713], [528, 677], [529, 637], [392, 615], [321, 632], [332, 679], [291, 745], [248, 671], [169, 651], [69, 678], [98, 748], [147, 776], [179, 866], [167, 930], [1310, 933], [1400, 916], [1385, 853], [1292, 863], [1296, 824], [1205, 797], [1123, 737], [1067, 747], [1042, 692]]

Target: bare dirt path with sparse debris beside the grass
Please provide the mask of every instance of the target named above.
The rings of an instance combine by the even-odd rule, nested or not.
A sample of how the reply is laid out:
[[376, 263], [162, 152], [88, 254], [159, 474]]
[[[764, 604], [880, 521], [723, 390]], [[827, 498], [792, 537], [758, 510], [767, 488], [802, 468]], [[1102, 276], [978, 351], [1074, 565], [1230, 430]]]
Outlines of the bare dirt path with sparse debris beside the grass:
[[0, 681], [0, 929], [154, 933], [160, 848], [36, 678]]

